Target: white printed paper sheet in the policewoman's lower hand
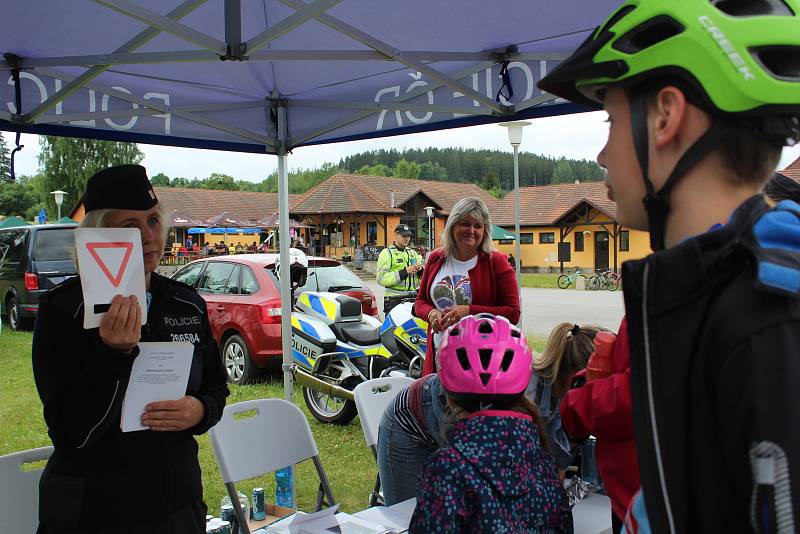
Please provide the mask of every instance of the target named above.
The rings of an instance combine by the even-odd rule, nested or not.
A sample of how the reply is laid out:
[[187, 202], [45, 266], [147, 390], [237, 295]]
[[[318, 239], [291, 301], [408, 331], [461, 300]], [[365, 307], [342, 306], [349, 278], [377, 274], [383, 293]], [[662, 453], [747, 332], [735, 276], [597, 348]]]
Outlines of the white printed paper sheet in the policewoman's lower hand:
[[123, 432], [147, 430], [141, 418], [151, 402], [178, 400], [186, 395], [194, 345], [191, 343], [140, 342], [133, 361], [128, 389], [122, 401]]

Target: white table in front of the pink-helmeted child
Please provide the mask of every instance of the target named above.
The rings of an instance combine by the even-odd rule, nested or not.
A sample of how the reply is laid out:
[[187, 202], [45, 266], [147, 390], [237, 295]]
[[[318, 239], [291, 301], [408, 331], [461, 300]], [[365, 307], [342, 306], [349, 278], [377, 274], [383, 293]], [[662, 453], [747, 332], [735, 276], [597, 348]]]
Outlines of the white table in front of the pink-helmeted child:
[[[395, 532], [406, 532], [416, 505], [416, 499], [409, 499], [388, 508], [375, 506], [353, 515], [379, 525], [402, 522], [406, 530], [395, 530]], [[288, 525], [292, 517], [281, 519], [270, 526]], [[575, 534], [611, 534], [611, 501], [605, 495], [597, 493], [587, 495], [572, 509], [572, 525]], [[267, 534], [269, 532], [267, 528], [256, 530], [253, 534]]]

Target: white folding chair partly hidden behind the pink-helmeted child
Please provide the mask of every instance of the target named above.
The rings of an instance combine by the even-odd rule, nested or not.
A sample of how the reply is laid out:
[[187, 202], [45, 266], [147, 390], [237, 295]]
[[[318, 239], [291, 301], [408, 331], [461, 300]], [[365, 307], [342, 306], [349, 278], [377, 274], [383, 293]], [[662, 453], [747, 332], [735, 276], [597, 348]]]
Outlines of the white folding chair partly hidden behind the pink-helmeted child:
[[[358, 417], [361, 420], [361, 428], [364, 430], [364, 439], [367, 447], [372, 450], [372, 455], [378, 459], [378, 425], [383, 417], [383, 412], [394, 398], [403, 389], [407, 388], [414, 380], [406, 376], [387, 376], [384, 378], [373, 378], [366, 382], [361, 382], [353, 390], [353, 397], [356, 401]], [[381, 479], [375, 478], [375, 487], [369, 496], [369, 505], [381, 504]]]

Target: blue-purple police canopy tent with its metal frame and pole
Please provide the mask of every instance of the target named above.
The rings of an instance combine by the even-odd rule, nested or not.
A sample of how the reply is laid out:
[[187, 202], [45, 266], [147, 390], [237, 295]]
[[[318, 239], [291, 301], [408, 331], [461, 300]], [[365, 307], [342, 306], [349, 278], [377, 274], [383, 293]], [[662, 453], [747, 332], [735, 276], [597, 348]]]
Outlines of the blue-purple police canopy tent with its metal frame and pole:
[[293, 148], [581, 111], [536, 82], [619, 3], [6, 1], [0, 129], [276, 154], [288, 243]]

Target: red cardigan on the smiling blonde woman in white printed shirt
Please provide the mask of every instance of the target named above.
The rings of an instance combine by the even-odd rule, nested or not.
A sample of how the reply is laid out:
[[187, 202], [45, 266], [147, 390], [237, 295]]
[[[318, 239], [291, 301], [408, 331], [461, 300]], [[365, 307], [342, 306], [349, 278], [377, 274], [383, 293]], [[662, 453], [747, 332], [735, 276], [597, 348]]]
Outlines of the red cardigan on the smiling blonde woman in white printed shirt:
[[[419, 282], [417, 300], [414, 302], [414, 314], [425, 321], [428, 320], [428, 315], [434, 309], [431, 300], [431, 285], [436, 274], [444, 265], [445, 259], [444, 250], [436, 249], [425, 261], [425, 270], [422, 273], [422, 280]], [[505, 254], [497, 251], [491, 254], [479, 252], [478, 263], [469, 271], [469, 279], [472, 286], [470, 314], [493, 313], [502, 315], [514, 324], [519, 321], [517, 279]], [[435, 372], [435, 350], [429, 325], [428, 348], [422, 374], [424, 376]]]

